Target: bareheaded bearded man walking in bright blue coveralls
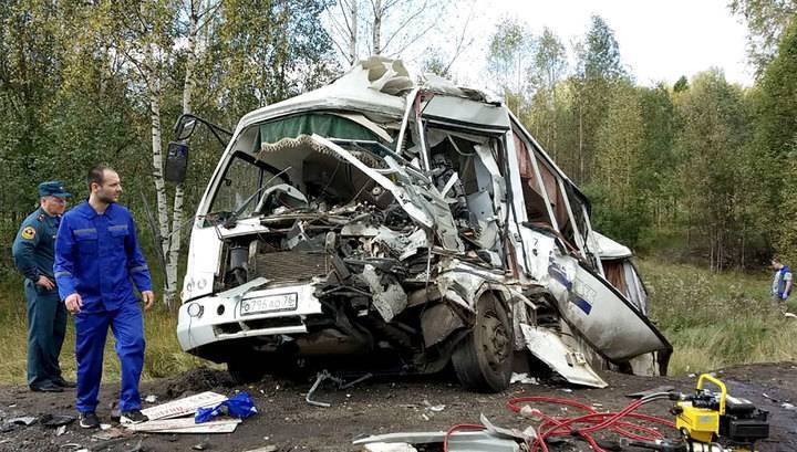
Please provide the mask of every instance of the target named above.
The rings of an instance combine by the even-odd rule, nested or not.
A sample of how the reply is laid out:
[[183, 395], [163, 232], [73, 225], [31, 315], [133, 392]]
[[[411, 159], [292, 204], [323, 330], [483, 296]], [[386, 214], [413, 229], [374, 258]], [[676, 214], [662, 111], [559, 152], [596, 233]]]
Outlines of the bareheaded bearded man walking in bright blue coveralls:
[[130, 211], [116, 203], [120, 177], [97, 166], [89, 171], [89, 200], [66, 212], [55, 241], [55, 280], [74, 314], [80, 425], [100, 427], [95, 413], [107, 329], [122, 364], [121, 421], [144, 422], [138, 380], [144, 366], [144, 323], [135, 287], [148, 309], [155, 294]]

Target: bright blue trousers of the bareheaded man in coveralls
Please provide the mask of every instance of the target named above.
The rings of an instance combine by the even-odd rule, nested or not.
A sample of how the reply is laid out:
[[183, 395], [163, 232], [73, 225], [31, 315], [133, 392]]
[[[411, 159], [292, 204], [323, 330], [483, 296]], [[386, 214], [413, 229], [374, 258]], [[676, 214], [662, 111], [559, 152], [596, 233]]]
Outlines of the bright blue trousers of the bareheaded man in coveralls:
[[115, 311], [75, 315], [75, 357], [77, 358], [77, 411], [96, 410], [103, 370], [107, 329], [116, 339], [122, 367], [120, 409], [141, 409], [138, 380], [144, 367], [144, 322], [137, 303], [124, 303]]

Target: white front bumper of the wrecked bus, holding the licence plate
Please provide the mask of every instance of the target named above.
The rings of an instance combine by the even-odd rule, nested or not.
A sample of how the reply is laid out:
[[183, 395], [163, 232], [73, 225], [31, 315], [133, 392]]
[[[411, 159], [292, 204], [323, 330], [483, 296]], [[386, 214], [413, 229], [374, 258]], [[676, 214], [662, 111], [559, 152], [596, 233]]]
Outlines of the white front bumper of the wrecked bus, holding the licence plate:
[[307, 333], [307, 316], [322, 314], [313, 292], [311, 284], [301, 284], [184, 303], [177, 320], [180, 348], [192, 351], [220, 340]]

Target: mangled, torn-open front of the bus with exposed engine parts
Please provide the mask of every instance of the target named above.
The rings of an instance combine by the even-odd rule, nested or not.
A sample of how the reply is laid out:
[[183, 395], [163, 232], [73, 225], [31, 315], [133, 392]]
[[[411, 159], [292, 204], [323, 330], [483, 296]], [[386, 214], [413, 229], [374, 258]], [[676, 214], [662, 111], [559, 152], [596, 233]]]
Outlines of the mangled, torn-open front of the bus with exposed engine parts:
[[[375, 141], [300, 136], [263, 144], [250, 164], [269, 176], [241, 216], [257, 218], [259, 228], [225, 239], [216, 292], [252, 281], [268, 288], [306, 284], [322, 313], [286, 312], [218, 328], [302, 323], [307, 334], [259, 336], [250, 345], [335, 362], [371, 355], [369, 366], [382, 357], [398, 365], [393, 370], [431, 372], [446, 366], [482, 323], [485, 337], [476, 340], [487, 341], [479, 347], [490, 349], [489, 362], [463, 366], [493, 370], [493, 381], [476, 378], [475, 388], [501, 389], [514, 338], [509, 266], [494, 202], [500, 185], [478, 146], [439, 139], [427, 177]], [[231, 229], [229, 220], [217, 228]], [[477, 315], [479, 301], [489, 307]]]

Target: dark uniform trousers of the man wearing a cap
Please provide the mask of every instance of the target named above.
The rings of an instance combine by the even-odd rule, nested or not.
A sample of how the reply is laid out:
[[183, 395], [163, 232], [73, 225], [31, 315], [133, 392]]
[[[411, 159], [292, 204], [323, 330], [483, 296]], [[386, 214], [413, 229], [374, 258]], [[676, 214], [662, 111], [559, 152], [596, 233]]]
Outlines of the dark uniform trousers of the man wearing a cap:
[[25, 280], [28, 304], [28, 386], [39, 387], [61, 378], [59, 355], [66, 335], [66, 307], [58, 291]]

